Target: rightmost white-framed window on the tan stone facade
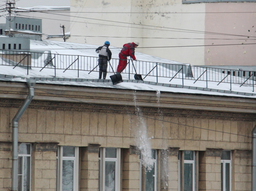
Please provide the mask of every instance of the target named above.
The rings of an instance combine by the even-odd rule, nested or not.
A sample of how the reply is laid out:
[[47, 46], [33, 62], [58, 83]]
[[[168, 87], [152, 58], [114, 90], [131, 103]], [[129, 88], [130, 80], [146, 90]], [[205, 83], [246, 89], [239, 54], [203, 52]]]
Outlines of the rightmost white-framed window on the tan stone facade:
[[231, 191], [231, 151], [221, 153], [221, 191]]

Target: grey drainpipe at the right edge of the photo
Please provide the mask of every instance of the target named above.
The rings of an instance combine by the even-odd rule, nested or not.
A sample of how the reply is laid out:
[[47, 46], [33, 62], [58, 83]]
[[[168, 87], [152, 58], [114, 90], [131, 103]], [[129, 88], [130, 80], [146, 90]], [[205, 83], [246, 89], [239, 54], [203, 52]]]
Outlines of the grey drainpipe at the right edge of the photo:
[[252, 131], [252, 191], [256, 190], [256, 125]]

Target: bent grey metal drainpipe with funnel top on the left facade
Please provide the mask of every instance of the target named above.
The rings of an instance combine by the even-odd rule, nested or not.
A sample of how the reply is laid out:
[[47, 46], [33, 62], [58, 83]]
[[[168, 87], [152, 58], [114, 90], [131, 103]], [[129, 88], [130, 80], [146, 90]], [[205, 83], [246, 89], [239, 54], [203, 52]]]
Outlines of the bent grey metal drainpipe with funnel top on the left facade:
[[18, 121], [34, 97], [35, 83], [35, 80], [27, 79], [28, 95], [12, 120], [12, 191], [18, 190]]

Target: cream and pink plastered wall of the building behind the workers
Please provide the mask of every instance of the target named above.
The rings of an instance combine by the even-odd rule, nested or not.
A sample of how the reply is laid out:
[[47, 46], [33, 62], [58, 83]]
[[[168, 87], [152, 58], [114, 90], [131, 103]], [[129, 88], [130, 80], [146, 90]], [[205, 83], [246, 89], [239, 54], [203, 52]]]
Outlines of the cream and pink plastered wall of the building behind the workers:
[[255, 8], [254, 0], [71, 0], [69, 42], [139, 40], [136, 51], [181, 63], [254, 66]]

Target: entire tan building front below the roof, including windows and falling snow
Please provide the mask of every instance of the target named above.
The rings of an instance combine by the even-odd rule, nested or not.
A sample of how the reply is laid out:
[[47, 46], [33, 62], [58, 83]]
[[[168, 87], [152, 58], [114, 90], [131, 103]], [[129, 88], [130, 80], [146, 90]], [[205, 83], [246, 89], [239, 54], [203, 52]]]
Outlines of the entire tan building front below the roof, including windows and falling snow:
[[[28, 88], [0, 82], [0, 191]], [[19, 191], [251, 190], [255, 99], [36, 83], [19, 120]]]

